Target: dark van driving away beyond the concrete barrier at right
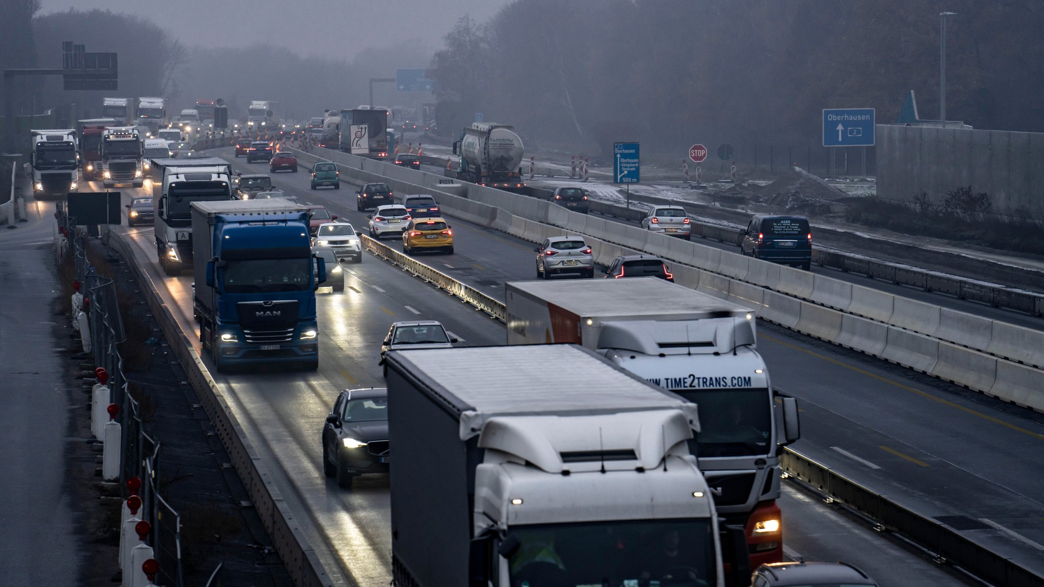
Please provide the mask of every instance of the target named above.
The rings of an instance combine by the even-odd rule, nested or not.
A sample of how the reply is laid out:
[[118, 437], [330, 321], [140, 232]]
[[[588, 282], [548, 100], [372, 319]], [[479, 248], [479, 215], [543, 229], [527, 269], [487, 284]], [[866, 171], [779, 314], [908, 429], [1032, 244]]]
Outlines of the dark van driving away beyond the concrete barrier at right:
[[746, 226], [740, 252], [756, 259], [800, 266], [812, 265], [812, 232], [804, 216], [757, 215]]

